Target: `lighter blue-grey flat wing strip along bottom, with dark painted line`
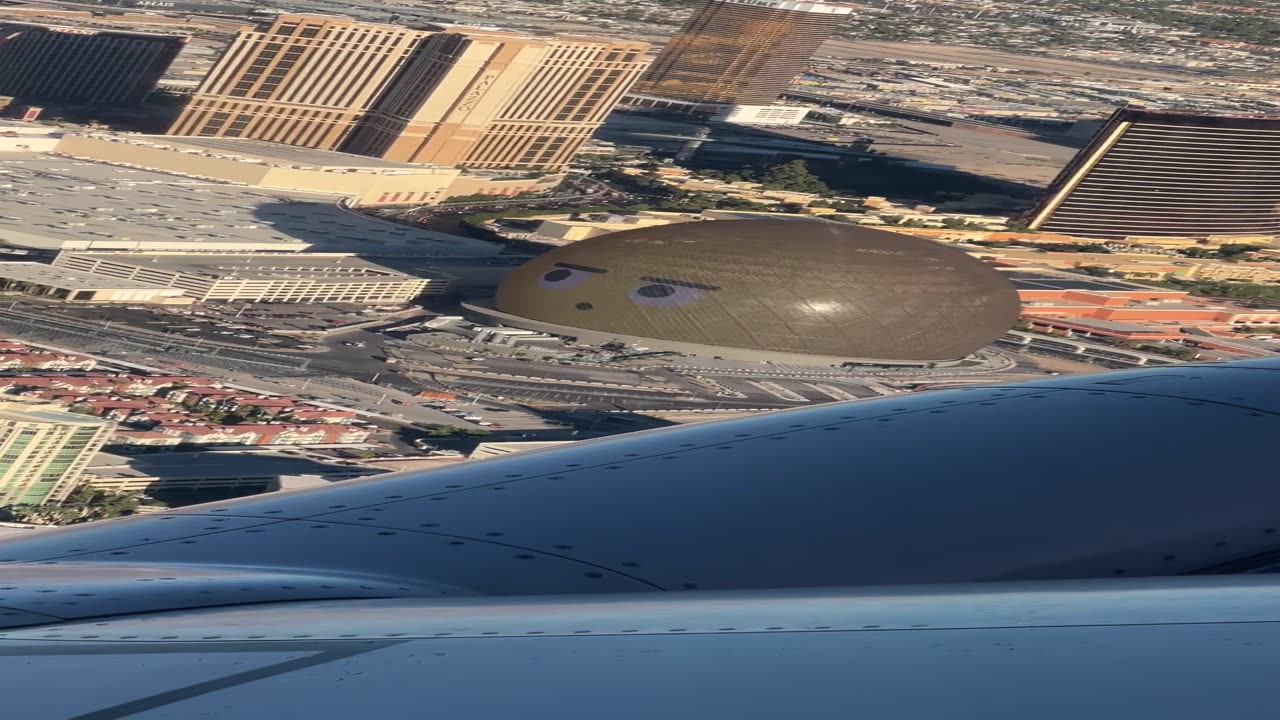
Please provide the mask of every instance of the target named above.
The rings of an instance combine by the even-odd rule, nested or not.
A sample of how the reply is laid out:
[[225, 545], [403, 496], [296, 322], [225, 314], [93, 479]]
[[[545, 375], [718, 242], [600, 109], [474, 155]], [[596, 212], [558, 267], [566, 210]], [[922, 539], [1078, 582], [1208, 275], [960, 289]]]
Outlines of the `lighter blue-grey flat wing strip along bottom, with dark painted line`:
[[1210, 580], [268, 605], [10, 632], [0, 676], [28, 720], [1266, 712], [1280, 584]]

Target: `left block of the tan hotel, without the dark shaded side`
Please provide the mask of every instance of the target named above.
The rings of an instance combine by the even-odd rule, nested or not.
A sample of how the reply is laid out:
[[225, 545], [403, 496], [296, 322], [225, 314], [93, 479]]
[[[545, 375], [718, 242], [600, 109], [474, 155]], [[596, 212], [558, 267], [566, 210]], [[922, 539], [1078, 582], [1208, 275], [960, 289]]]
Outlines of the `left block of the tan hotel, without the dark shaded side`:
[[303, 14], [247, 27], [168, 135], [337, 150], [430, 33]]

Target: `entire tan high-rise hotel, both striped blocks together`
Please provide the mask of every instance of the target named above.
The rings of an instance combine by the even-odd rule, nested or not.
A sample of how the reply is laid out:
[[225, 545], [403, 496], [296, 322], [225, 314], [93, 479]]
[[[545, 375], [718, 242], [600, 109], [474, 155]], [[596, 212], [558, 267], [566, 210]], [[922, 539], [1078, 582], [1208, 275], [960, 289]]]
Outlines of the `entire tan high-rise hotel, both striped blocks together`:
[[168, 135], [556, 170], [640, 77], [648, 49], [280, 15], [237, 36]]

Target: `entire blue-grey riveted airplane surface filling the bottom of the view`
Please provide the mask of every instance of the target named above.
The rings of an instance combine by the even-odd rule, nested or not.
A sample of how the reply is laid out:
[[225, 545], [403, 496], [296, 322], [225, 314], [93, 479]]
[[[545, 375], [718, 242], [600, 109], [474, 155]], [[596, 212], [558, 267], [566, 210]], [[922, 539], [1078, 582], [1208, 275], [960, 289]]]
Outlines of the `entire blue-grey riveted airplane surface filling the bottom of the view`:
[[32, 720], [1263, 711], [1277, 380], [833, 404], [6, 539], [0, 697]]

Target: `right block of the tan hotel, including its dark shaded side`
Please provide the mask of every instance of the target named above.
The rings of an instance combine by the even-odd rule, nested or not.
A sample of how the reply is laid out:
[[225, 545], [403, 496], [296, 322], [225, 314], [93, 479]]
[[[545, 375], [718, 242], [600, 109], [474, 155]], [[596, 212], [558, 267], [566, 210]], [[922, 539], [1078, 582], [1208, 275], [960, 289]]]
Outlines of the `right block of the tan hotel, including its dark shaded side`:
[[448, 31], [342, 147], [404, 163], [563, 168], [648, 65], [635, 41]]

